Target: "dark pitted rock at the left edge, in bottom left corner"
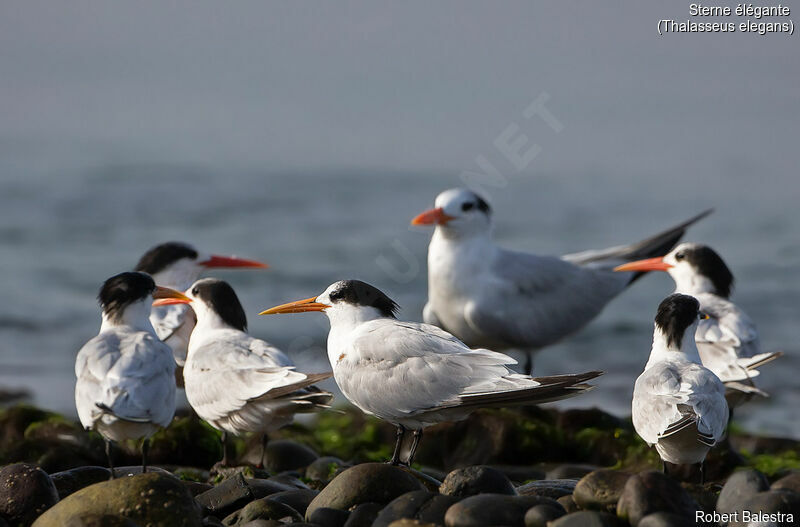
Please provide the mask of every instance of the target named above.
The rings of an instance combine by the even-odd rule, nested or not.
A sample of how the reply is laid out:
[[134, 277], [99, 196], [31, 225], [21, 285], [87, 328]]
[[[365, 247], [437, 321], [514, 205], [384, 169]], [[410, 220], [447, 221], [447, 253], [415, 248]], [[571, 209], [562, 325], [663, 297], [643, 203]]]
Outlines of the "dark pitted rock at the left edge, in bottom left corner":
[[0, 468], [0, 518], [12, 525], [30, 525], [57, 501], [53, 481], [39, 467], [16, 463]]

